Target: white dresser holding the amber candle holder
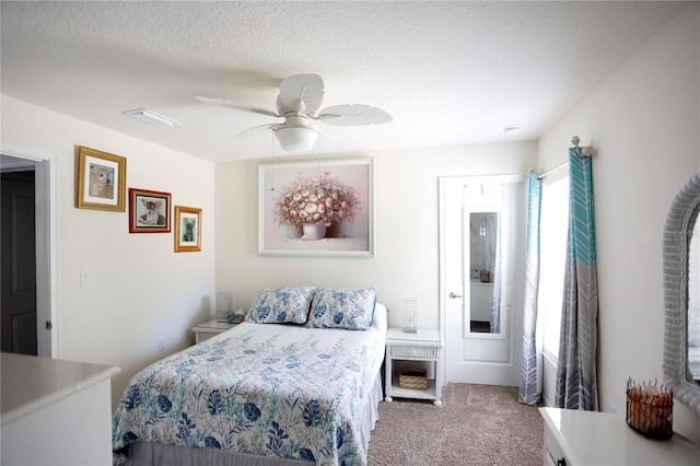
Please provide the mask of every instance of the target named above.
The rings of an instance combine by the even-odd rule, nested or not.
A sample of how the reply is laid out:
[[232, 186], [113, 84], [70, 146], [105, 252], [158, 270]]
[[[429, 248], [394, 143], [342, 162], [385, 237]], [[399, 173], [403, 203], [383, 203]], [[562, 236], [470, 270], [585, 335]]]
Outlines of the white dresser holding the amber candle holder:
[[544, 465], [699, 465], [700, 450], [682, 438], [650, 440], [625, 415], [539, 408], [545, 419]]

